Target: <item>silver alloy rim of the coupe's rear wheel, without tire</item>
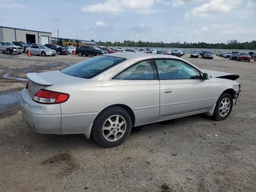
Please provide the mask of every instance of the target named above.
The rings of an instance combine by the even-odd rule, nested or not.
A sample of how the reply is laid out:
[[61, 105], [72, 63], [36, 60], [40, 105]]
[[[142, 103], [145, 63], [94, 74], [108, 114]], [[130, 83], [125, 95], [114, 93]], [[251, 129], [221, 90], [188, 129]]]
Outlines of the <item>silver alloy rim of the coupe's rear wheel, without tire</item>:
[[104, 122], [102, 127], [102, 135], [108, 141], [117, 141], [126, 131], [126, 120], [121, 115], [112, 115]]

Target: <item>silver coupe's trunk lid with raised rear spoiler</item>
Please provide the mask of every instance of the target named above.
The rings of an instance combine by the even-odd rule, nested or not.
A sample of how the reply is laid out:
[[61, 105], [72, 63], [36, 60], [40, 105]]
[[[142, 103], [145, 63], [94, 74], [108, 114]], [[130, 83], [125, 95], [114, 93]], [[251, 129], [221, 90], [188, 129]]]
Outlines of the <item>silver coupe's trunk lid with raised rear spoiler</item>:
[[28, 90], [30, 92], [30, 96], [33, 97], [36, 92], [40, 89], [44, 89], [47, 86], [52, 86], [55, 84], [68, 83], [68, 82], [78, 82], [85, 81], [86, 79], [74, 77], [71, 75], [64, 74], [60, 71], [49, 71], [42, 73], [28, 73], [27, 77], [29, 79], [28, 82]]

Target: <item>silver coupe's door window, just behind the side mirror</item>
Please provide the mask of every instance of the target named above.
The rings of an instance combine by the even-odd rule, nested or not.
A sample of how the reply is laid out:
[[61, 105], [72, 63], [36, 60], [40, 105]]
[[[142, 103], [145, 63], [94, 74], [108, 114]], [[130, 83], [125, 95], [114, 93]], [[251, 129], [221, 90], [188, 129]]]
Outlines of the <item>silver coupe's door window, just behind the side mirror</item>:
[[200, 72], [179, 60], [155, 60], [159, 80], [202, 79]]

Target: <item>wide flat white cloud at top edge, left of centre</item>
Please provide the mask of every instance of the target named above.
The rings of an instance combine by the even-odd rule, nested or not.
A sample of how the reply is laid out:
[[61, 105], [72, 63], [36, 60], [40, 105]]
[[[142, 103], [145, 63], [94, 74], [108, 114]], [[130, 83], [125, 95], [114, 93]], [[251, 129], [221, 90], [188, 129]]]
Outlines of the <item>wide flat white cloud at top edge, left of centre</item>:
[[82, 12], [123, 12], [125, 10], [137, 10], [137, 13], [152, 14], [155, 10], [150, 7], [155, 0], [106, 0], [104, 3], [91, 4], [82, 7]]

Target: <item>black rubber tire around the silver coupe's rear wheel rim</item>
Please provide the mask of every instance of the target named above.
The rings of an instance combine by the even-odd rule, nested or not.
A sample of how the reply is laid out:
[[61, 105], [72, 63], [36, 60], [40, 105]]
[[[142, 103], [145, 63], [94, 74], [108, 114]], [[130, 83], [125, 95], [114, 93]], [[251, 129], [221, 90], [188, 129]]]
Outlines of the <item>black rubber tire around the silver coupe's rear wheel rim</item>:
[[[102, 128], [106, 120], [108, 120], [108, 118], [114, 115], [119, 115], [124, 118], [124, 120], [126, 121], [126, 130], [122, 135], [122, 137], [120, 137], [120, 139], [116, 141], [108, 141], [103, 136]], [[126, 138], [129, 136], [131, 130], [132, 130], [132, 119], [130, 117], [130, 114], [119, 106], [111, 106], [104, 109], [97, 116], [97, 118], [93, 123], [91, 133], [92, 133], [92, 137], [98, 144], [100, 144], [102, 147], [108, 148], [108, 147], [115, 147], [122, 144], [126, 140]]]

